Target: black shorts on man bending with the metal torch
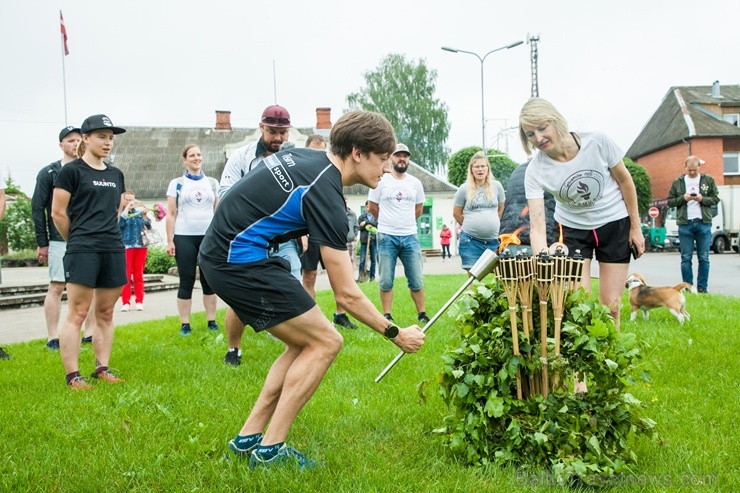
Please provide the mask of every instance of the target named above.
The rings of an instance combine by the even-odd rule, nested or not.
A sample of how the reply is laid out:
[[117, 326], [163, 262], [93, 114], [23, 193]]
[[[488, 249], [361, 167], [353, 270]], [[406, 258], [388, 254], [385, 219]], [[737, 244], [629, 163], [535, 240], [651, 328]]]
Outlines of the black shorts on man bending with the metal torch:
[[218, 297], [255, 332], [302, 315], [316, 305], [283, 258], [229, 264], [200, 256], [198, 262]]

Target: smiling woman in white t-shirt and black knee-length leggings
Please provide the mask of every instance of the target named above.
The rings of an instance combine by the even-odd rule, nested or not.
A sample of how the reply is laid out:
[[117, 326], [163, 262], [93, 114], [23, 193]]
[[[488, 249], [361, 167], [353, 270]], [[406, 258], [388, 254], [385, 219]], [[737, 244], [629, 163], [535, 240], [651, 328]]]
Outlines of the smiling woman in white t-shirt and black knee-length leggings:
[[[218, 181], [203, 172], [203, 155], [194, 144], [182, 150], [185, 174], [172, 180], [167, 187], [167, 253], [175, 257], [180, 286], [177, 290], [177, 311], [180, 314], [180, 334], [190, 335], [195, 269], [198, 252], [206, 230], [218, 205]], [[203, 306], [208, 328], [218, 331], [216, 294], [200, 272]]]

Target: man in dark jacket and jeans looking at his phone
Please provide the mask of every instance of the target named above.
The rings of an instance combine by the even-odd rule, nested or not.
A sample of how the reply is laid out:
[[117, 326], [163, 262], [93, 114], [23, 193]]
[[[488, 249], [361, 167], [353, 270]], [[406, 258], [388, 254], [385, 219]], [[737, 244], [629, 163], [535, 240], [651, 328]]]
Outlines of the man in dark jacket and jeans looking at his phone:
[[[696, 286], [699, 293], [707, 292], [709, 284], [709, 246], [712, 242], [712, 206], [719, 203], [719, 190], [714, 178], [699, 173], [704, 164], [697, 156], [689, 156], [684, 162], [686, 174], [679, 176], [668, 192], [668, 207], [676, 208], [676, 224], [681, 250], [681, 277], [684, 282]], [[699, 269], [696, 284], [692, 256], [696, 244]]]

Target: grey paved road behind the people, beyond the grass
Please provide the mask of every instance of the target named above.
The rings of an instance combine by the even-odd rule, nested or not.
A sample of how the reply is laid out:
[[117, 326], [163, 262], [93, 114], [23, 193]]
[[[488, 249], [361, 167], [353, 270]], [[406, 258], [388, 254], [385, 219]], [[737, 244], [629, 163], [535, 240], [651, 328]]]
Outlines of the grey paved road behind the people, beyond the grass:
[[[740, 255], [725, 253], [710, 255], [711, 271], [709, 276], [709, 292], [728, 296], [740, 296]], [[677, 252], [647, 253], [642, 258], [633, 261], [630, 272], [640, 272], [652, 286], [673, 286], [681, 282], [680, 255]], [[594, 263], [592, 276], [598, 277], [597, 264]], [[460, 267], [460, 258], [454, 257], [451, 262], [442, 262], [440, 258], [429, 258], [424, 263], [425, 274], [458, 274], [463, 273]], [[48, 281], [47, 272], [42, 267], [22, 267], [3, 269], [3, 284], [29, 285], [44, 284]], [[396, 276], [403, 276], [399, 267]], [[168, 279], [168, 276], [166, 277]], [[176, 282], [176, 279], [172, 279]], [[433, 281], [431, 281], [433, 282]], [[325, 273], [320, 273], [316, 281], [316, 289], [329, 289], [329, 279]], [[202, 298], [198, 289], [193, 293], [193, 312], [204, 311]], [[175, 291], [147, 293], [144, 299], [144, 311], [121, 313], [120, 301], [116, 305], [114, 321], [116, 325], [142, 322], [146, 320], [160, 320], [177, 314]], [[219, 303], [223, 307], [223, 303]], [[66, 316], [66, 303], [62, 308], [62, 320]], [[16, 310], [0, 311], [0, 345], [31, 341], [46, 338], [43, 307], [20, 308]], [[177, 330], [178, 322], [173, 322], [173, 329]]]

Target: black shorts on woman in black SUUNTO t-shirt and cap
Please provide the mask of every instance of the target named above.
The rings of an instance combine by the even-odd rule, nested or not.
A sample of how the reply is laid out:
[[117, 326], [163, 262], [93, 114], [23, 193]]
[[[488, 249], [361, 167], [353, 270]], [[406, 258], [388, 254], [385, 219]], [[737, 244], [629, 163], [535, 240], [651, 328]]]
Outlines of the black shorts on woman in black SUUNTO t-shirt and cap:
[[66, 252], [64, 281], [91, 288], [126, 284], [126, 252]]

